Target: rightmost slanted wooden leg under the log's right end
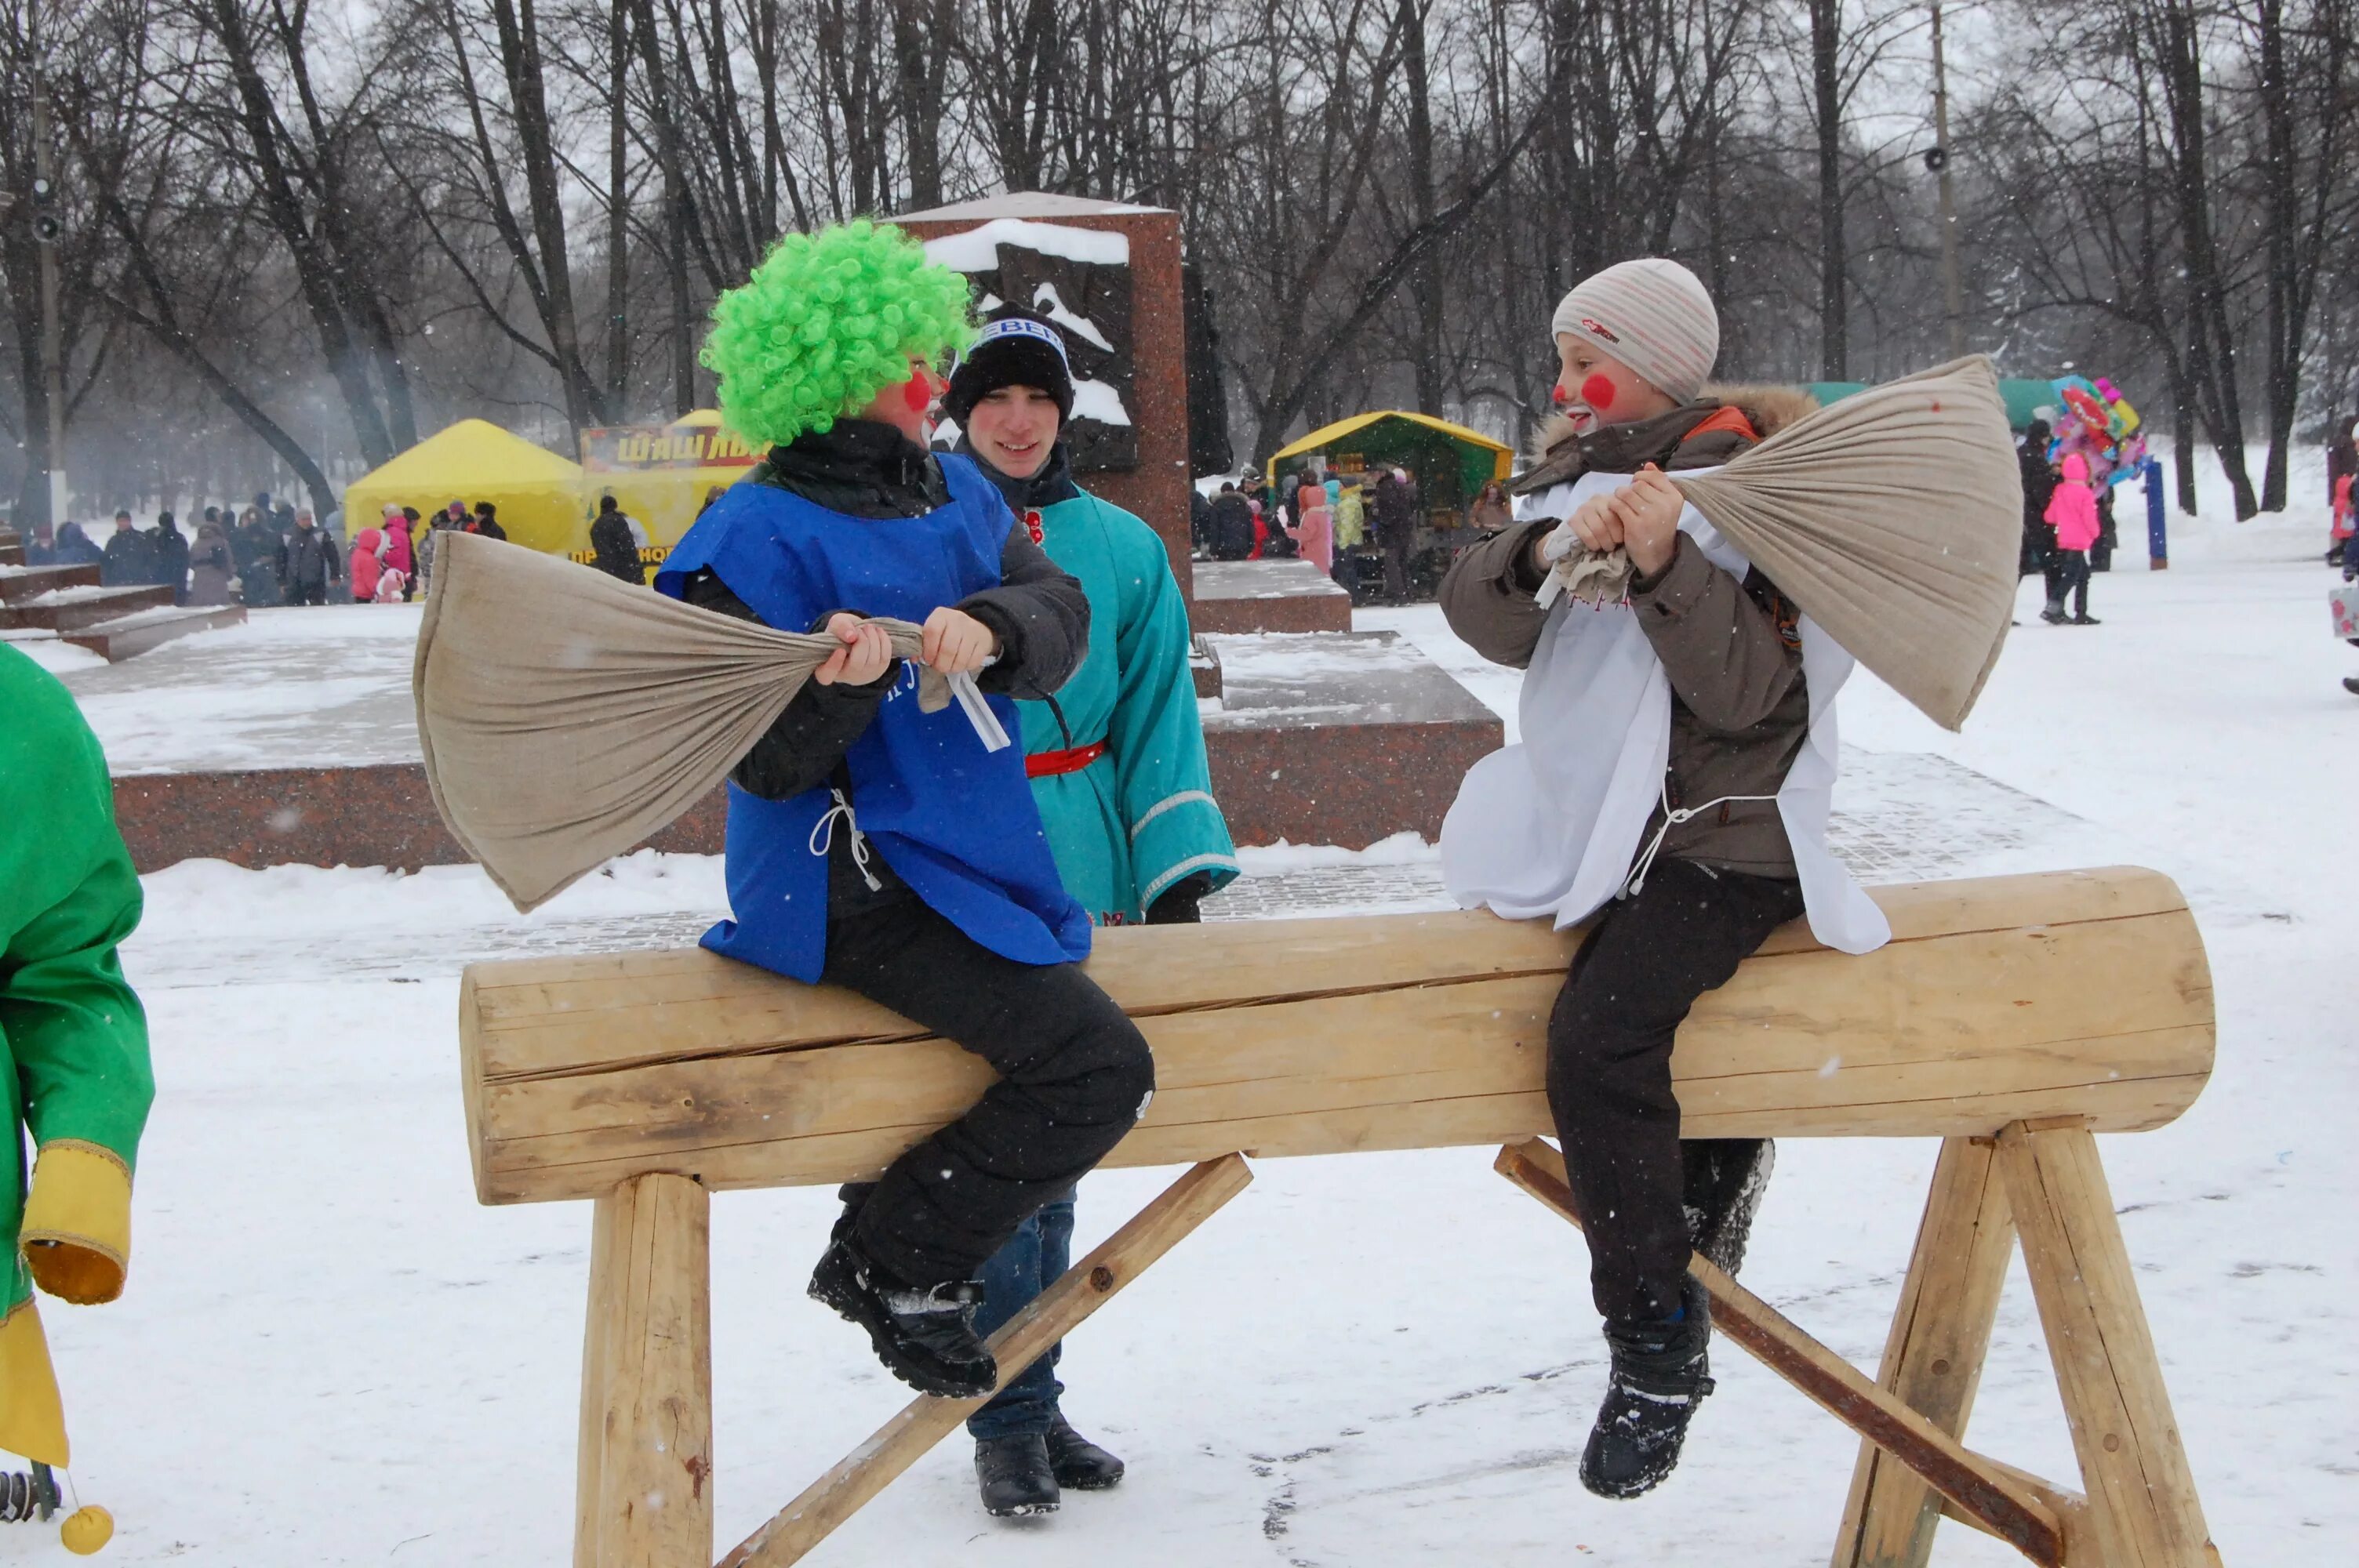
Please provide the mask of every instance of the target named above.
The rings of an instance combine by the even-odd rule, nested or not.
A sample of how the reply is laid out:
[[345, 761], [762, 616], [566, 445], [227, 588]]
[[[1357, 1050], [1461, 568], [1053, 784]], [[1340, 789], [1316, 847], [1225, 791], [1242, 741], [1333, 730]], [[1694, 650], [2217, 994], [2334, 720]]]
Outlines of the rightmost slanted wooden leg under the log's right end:
[[2085, 1122], [2015, 1122], [1998, 1134], [1998, 1170], [2081, 1457], [2095, 1561], [2213, 1568], [2220, 1559], [2114, 1221], [2097, 1139]]

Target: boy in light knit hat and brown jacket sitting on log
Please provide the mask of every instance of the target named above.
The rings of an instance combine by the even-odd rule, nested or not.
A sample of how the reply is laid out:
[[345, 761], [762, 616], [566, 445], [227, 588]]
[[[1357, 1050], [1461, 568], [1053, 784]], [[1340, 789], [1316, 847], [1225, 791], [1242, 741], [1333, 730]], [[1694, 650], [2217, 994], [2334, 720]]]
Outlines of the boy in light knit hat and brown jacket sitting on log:
[[[1628, 868], [1616, 861], [1621, 891], [1548, 1026], [1548, 1099], [1614, 1356], [1581, 1481], [1604, 1497], [1637, 1497], [1673, 1471], [1713, 1389], [1689, 1250], [1734, 1271], [1769, 1177], [1765, 1141], [1680, 1141], [1670, 1045], [1698, 995], [1802, 915], [1776, 797], [1812, 724], [1800, 615], [1757, 571], [1722, 568], [1680, 531], [1684, 502], [1663, 469], [1717, 467], [1812, 403], [1790, 391], [1743, 406], [1701, 396], [1720, 325], [1703, 285], [1675, 262], [1623, 262], [1588, 278], [1557, 309], [1555, 337], [1564, 417], [1517, 495], [1585, 474], [1635, 479], [1460, 554], [1441, 611], [1484, 658], [1529, 667], [1550, 615], [1533, 594], [1552, 564], [1569, 549], [1618, 549], [1635, 568], [1628, 604], [1670, 681], [1661, 799], [1642, 849]], [[1595, 745], [1611, 747], [1614, 736]], [[1446, 830], [1446, 870], [1448, 856]]]

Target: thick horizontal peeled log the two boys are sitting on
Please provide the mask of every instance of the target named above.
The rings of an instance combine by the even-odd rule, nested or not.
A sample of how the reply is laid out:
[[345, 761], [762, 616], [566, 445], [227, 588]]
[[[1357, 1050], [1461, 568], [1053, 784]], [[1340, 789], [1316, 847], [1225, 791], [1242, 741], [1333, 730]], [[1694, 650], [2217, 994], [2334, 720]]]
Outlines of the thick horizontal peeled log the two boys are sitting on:
[[[1885, 950], [1828, 953], [1798, 922], [1696, 1004], [1673, 1059], [1694, 1137], [1989, 1137], [2066, 1113], [2125, 1132], [2201, 1092], [2210, 971], [2168, 877], [1875, 898]], [[1540, 1134], [1576, 943], [1479, 910], [1102, 931], [1090, 974], [1139, 1019], [1158, 1080], [1109, 1165]], [[460, 1040], [484, 1203], [653, 1170], [708, 1188], [866, 1179], [991, 1082], [873, 1002], [701, 950], [474, 964]]]

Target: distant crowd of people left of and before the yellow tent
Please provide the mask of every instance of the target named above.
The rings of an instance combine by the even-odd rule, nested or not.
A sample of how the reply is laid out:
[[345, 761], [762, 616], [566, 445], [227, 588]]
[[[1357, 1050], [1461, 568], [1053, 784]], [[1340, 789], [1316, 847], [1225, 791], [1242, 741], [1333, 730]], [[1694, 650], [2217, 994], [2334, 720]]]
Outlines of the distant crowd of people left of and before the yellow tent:
[[26, 561], [97, 566], [104, 587], [170, 587], [182, 606], [406, 604], [432, 580], [434, 535], [453, 528], [507, 538], [493, 502], [453, 500], [432, 519], [389, 505], [347, 542], [340, 512], [321, 523], [264, 490], [245, 509], [205, 507], [193, 538], [172, 512], [158, 512], [151, 528], [116, 512], [104, 545], [78, 521], [38, 523]]

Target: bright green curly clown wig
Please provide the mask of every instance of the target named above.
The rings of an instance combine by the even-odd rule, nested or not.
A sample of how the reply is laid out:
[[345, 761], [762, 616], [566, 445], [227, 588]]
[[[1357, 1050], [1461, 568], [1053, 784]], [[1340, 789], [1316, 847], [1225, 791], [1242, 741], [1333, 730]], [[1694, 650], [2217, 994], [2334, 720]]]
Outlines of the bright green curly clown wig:
[[939, 361], [970, 335], [965, 274], [861, 219], [771, 245], [712, 302], [701, 358], [729, 429], [778, 446], [830, 429], [906, 382], [911, 358]]

